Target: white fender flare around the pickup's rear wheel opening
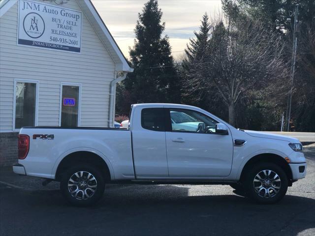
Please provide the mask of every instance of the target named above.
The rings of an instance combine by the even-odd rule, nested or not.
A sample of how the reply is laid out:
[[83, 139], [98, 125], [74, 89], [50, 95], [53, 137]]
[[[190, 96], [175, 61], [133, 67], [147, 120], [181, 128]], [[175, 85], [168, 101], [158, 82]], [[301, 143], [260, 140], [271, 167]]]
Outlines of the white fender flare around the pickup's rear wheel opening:
[[54, 164], [54, 167], [52, 169], [52, 172], [51, 172], [51, 177], [52, 178], [55, 178], [56, 177], [56, 172], [57, 172], [57, 169], [60, 165], [60, 163], [62, 162], [63, 158], [66, 157], [67, 155], [73, 153], [73, 152], [78, 152], [78, 151], [87, 151], [87, 152], [91, 152], [91, 153], [94, 153], [96, 155], [98, 155], [100, 158], [102, 158], [107, 167], [108, 167], [108, 170], [109, 170], [109, 173], [110, 173], [110, 178], [111, 180], [114, 180], [115, 179], [115, 173], [114, 173], [114, 169], [110, 163], [110, 161], [108, 160], [108, 158], [103, 154], [101, 153], [100, 151], [97, 151], [93, 148], [72, 148], [72, 149], [69, 149], [65, 152], [63, 152], [63, 154], [61, 154], [57, 160], [55, 161], [55, 164]]

